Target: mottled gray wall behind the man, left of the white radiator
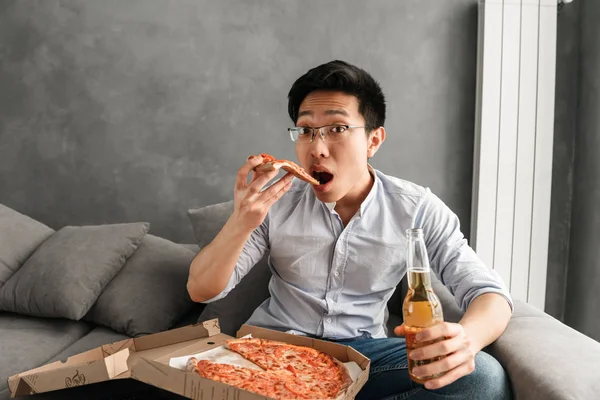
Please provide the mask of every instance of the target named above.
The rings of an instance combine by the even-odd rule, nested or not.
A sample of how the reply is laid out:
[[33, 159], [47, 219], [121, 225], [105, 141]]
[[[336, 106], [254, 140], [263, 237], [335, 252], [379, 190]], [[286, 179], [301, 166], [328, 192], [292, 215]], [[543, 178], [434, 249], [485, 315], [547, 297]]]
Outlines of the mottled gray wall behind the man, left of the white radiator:
[[192, 241], [252, 153], [295, 158], [286, 95], [341, 58], [380, 80], [373, 159], [471, 207], [476, 0], [0, 2], [0, 202], [59, 228]]

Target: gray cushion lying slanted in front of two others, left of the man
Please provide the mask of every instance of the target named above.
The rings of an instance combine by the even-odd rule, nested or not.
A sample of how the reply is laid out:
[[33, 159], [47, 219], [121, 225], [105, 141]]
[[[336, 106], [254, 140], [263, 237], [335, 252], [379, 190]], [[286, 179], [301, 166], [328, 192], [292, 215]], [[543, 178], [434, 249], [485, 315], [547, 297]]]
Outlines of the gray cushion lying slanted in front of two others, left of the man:
[[60, 229], [0, 288], [0, 310], [81, 319], [148, 228], [139, 222]]

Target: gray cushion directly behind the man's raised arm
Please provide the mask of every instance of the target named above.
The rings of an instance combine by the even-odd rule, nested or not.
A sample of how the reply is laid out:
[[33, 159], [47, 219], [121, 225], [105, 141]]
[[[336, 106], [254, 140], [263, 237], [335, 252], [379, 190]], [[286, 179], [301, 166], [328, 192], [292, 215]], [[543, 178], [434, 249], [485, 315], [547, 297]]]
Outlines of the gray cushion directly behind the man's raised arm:
[[[200, 248], [210, 243], [233, 212], [233, 201], [192, 209], [188, 216]], [[207, 304], [199, 321], [218, 318], [221, 331], [234, 336], [254, 310], [269, 297], [268, 256], [260, 260], [224, 298]]]

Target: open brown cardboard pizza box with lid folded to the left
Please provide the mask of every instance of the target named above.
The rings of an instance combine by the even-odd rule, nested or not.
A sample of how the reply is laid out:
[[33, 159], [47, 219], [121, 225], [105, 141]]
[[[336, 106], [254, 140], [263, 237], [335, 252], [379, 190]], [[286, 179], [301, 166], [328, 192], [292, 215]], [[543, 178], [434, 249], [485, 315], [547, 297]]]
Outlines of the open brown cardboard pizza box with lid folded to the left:
[[[351, 347], [243, 325], [237, 337], [278, 340], [308, 346], [330, 354], [343, 363], [360, 367], [355, 380], [339, 399], [354, 399], [369, 375], [370, 361]], [[190, 399], [268, 399], [227, 384], [169, 366], [170, 360], [221, 346], [222, 334], [214, 319], [153, 335], [110, 343], [8, 378], [11, 397], [51, 392], [115, 379], [134, 379]], [[65, 392], [67, 394], [67, 392]]]

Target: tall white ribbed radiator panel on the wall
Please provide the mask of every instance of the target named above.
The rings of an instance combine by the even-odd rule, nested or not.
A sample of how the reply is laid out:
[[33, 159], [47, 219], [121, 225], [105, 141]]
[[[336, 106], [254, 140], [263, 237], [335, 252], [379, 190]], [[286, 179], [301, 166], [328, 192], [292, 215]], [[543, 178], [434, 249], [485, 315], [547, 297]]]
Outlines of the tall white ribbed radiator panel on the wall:
[[481, 0], [471, 244], [514, 298], [546, 293], [556, 0]]

